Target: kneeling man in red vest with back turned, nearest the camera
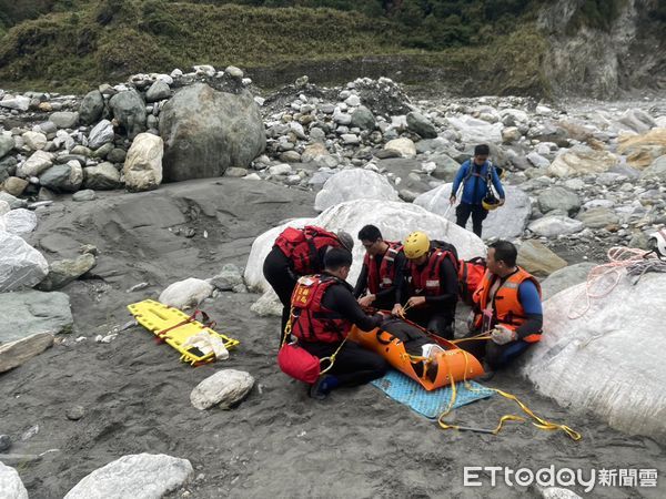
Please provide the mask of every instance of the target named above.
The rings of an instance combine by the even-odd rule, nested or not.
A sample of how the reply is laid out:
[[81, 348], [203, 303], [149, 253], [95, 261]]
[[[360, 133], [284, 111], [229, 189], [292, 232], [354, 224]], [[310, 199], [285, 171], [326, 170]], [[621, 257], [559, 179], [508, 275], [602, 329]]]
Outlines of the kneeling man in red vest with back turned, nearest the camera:
[[[363, 330], [379, 327], [384, 316], [366, 315], [352, 294], [346, 277], [352, 266], [352, 254], [344, 248], [331, 248], [324, 256], [322, 274], [299, 279], [292, 301], [292, 335], [310, 354], [330, 357], [346, 337], [352, 324]], [[310, 297], [305, 305], [297, 297]], [[310, 387], [310, 396], [324, 398], [337, 386], [355, 386], [382, 377], [389, 363], [374, 352], [356, 343], [346, 342], [331, 370]]]

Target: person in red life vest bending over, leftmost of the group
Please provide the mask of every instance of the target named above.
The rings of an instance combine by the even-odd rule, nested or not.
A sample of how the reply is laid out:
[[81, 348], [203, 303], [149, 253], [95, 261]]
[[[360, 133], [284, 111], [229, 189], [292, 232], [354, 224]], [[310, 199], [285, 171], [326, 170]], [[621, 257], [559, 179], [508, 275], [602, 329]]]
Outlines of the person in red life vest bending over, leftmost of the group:
[[264, 261], [263, 275], [282, 303], [281, 332], [289, 320], [291, 295], [296, 279], [302, 275], [322, 272], [324, 254], [332, 247], [345, 247], [351, 252], [354, 240], [344, 231], [335, 234], [314, 225], [286, 227], [275, 238], [275, 244]]

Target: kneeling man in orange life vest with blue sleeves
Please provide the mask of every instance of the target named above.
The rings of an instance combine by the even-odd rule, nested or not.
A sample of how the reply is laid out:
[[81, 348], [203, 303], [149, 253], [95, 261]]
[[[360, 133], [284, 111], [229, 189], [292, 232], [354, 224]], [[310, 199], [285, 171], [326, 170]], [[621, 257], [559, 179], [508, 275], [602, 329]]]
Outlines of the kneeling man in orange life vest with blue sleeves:
[[516, 265], [517, 249], [508, 241], [488, 246], [486, 274], [474, 293], [476, 333], [492, 339], [461, 346], [484, 359], [484, 370], [506, 365], [541, 339], [543, 309], [536, 278]]

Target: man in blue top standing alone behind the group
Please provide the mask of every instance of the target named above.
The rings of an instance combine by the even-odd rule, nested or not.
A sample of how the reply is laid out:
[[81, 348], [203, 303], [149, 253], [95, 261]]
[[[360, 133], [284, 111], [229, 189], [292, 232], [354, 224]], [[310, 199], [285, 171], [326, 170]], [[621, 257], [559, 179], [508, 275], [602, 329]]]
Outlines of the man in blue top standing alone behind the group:
[[[480, 144], [474, 147], [474, 157], [461, 165], [451, 187], [450, 202], [454, 204], [457, 190], [461, 183], [463, 184], [461, 204], [455, 210], [455, 223], [461, 227], [465, 227], [470, 215], [472, 215], [472, 230], [478, 237], [481, 237], [482, 223], [488, 216], [486, 206], [502, 206], [505, 198], [500, 175], [497, 175], [497, 171], [488, 161], [490, 153], [491, 150], [486, 144]], [[491, 198], [493, 196], [491, 185], [497, 191], [500, 200]]]

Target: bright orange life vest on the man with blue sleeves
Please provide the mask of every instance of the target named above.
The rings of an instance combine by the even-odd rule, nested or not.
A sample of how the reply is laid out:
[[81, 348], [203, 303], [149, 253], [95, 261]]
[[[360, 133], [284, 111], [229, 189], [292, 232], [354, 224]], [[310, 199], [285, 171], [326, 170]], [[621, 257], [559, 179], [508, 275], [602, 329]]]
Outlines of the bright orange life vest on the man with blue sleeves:
[[[490, 292], [493, 283], [495, 283], [495, 279], [497, 278], [498, 277], [495, 274], [486, 271], [481, 285], [474, 293], [474, 302], [478, 304], [482, 310], [482, 313], [477, 315], [477, 326], [481, 326], [483, 320], [483, 310], [485, 310], [488, 305]], [[527, 279], [534, 283], [536, 291], [538, 292], [538, 297], [541, 298], [542, 292], [538, 281], [536, 281], [532, 274], [518, 267], [518, 271], [509, 275], [495, 293], [495, 297], [493, 299], [493, 318], [491, 327], [502, 324], [508, 329], [516, 330], [522, 324], [525, 323], [527, 317], [525, 317], [525, 309], [521, 304], [518, 287]], [[528, 343], [538, 342], [541, 339], [541, 333], [534, 333], [522, 339]]]

